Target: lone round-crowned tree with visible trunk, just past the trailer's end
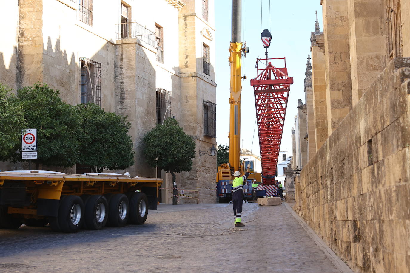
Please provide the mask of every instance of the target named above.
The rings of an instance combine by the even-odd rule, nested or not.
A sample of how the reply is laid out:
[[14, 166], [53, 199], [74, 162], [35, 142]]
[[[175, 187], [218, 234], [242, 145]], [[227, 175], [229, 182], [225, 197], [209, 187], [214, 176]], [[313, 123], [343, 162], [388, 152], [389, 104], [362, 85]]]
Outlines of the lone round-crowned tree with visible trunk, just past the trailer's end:
[[144, 137], [144, 156], [152, 167], [159, 167], [170, 172], [173, 181], [172, 204], [177, 205], [178, 193], [175, 173], [190, 171], [195, 157], [195, 142], [184, 133], [175, 119], [168, 118], [164, 124], [158, 124]]

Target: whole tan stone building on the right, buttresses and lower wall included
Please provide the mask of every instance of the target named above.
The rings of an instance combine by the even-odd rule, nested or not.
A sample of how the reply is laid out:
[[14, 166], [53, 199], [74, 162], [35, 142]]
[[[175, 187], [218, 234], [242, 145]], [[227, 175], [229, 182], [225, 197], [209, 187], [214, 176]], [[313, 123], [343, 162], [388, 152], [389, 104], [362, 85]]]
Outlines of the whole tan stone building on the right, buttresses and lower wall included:
[[410, 1], [320, 4], [306, 100], [316, 152], [294, 210], [353, 271], [408, 272]]

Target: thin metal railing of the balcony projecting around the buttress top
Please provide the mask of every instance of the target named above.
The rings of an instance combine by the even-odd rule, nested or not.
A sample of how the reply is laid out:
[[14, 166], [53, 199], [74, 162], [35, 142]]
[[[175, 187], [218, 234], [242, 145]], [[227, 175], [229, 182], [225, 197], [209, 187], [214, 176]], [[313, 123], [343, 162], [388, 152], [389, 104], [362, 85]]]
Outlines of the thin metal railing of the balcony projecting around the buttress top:
[[115, 24], [115, 39], [138, 38], [153, 47], [155, 45], [155, 33], [137, 22]]

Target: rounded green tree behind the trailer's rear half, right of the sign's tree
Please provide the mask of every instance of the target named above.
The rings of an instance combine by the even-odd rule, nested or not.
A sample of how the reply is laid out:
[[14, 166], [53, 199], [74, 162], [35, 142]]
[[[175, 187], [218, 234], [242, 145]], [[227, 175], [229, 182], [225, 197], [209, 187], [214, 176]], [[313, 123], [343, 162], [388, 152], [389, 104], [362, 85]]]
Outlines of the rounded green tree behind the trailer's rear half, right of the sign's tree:
[[78, 163], [91, 165], [94, 172], [134, 165], [134, 145], [127, 134], [131, 124], [126, 117], [93, 103], [79, 104], [76, 109], [82, 119]]

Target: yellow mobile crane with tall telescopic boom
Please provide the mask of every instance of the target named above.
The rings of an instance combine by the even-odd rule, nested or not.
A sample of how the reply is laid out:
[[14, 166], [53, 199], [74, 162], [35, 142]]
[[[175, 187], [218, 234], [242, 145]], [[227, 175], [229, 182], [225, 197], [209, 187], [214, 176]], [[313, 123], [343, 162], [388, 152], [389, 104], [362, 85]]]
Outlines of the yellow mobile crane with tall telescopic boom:
[[[222, 181], [221, 187], [225, 186], [227, 189], [229, 180], [234, 178], [233, 173], [240, 171], [241, 174], [245, 170], [245, 162], [240, 164], [240, 134], [241, 134], [241, 91], [242, 91], [242, 79], [246, 79], [246, 76], [241, 75], [241, 58], [242, 54], [246, 57], [246, 53], [249, 52], [246, 43], [241, 41], [241, 7], [242, 0], [232, 0], [232, 36], [229, 45], [229, 65], [230, 65], [230, 114], [229, 114], [229, 163], [221, 164], [218, 167], [216, 174], [216, 183]], [[260, 174], [251, 174], [249, 179], [256, 178], [261, 181]], [[258, 179], [259, 178], [259, 179]], [[220, 192], [223, 192], [221, 189]], [[230, 192], [230, 191], [229, 191]], [[247, 190], [246, 190], [247, 192]], [[225, 200], [229, 199], [224, 197]]]

